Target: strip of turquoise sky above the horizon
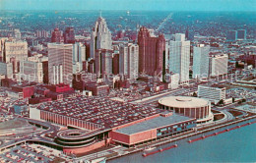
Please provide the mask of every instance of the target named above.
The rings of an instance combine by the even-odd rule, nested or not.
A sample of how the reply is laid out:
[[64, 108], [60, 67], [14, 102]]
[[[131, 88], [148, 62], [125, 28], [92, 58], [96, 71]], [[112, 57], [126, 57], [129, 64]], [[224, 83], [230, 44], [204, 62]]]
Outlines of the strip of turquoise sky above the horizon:
[[0, 0], [0, 10], [256, 11], [256, 0]]

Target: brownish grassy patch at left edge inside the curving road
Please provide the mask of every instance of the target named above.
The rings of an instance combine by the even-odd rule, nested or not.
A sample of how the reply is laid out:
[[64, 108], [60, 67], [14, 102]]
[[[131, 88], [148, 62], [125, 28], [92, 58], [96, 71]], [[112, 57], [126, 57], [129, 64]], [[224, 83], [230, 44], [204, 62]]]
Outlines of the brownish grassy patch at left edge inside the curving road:
[[29, 126], [29, 125], [30, 124], [27, 121], [13, 119], [13, 120], [9, 120], [9, 121], [0, 123], [0, 130], [22, 128], [22, 127]]

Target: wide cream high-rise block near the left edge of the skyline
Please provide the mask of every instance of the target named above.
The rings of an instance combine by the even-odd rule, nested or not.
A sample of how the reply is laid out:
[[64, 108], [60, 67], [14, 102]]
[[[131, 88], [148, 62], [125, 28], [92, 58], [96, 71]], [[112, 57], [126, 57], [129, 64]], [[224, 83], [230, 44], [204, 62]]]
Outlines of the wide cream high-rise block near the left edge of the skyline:
[[28, 58], [28, 42], [27, 41], [6, 41], [4, 43], [3, 61], [5, 63], [13, 63], [13, 73], [20, 70], [20, 62], [26, 61]]

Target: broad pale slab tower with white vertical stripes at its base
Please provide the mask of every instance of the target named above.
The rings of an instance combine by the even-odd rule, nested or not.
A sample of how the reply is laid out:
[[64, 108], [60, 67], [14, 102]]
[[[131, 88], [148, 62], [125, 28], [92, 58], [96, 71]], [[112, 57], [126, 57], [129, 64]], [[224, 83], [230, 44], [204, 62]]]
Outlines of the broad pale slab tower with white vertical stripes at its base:
[[72, 83], [73, 44], [48, 43], [49, 83]]

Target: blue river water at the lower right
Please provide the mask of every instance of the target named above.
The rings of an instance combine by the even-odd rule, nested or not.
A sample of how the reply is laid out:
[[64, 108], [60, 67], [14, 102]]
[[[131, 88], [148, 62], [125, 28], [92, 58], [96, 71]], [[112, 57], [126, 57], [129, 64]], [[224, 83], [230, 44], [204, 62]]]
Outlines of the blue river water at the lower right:
[[[143, 157], [142, 152], [138, 152], [108, 162], [256, 162], [256, 124], [193, 143], [188, 143], [187, 140], [177, 141], [178, 147], [148, 157]], [[163, 146], [171, 144], [174, 143]]]

